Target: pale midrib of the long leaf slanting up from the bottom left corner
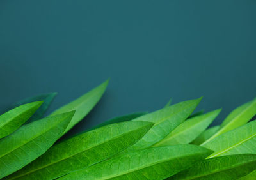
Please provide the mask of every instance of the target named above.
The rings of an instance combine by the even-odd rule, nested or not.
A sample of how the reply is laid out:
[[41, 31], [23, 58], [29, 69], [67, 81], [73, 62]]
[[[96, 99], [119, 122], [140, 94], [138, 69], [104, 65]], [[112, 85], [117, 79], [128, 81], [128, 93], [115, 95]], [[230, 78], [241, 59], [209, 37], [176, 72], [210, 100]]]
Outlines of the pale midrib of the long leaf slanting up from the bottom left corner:
[[[145, 126], [141, 127], [140, 129], [142, 129], [142, 128], [145, 128]], [[139, 129], [136, 129], [136, 130], [139, 130]], [[133, 131], [136, 131], [136, 130], [133, 130]], [[127, 132], [127, 133], [123, 133], [122, 135], [118, 135], [118, 136], [115, 137], [115, 138], [109, 139], [108, 141], [101, 142], [100, 144], [97, 144], [97, 145], [95, 145], [95, 146], [87, 147], [87, 149], [84, 149], [83, 151], [80, 151], [80, 152], [77, 152], [77, 153], [75, 153], [75, 154], [72, 154], [71, 156], [67, 156], [66, 158], [63, 158], [63, 159], [58, 160], [58, 161], [55, 161], [54, 163], [47, 164], [47, 165], [45, 165], [45, 166], [43, 166], [43, 167], [40, 167], [40, 168], [38, 168], [38, 169], [31, 170], [31, 171], [29, 171], [29, 172], [26, 172], [25, 174], [20, 174], [19, 176], [15, 176], [15, 177], [13, 177], [13, 178], [11, 178], [11, 179], [16, 179], [16, 178], [18, 178], [18, 177], [26, 176], [26, 175], [28, 175], [28, 174], [31, 174], [31, 173], [33, 173], [33, 172], [36, 172], [37, 170], [44, 169], [44, 168], [46, 168], [46, 167], [49, 167], [49, 166], [54, 165], [54, 164], [56, 164], [56, 163], [59, 163], [60, 161], [67, 160], [68, 158], [71, 158], [72, 156], [76, 156], [77, 154], [83, 153], [84, 151], [88, 151], [88, 149], [92, 149], [93, 147], [100, 146], [101, 144], [105, 144], [105, 143], [107, 143], [107, 142], [109, 142], [109, 141], [111, 141], [111, 140], [118, 139], [119, 137], [122, 137], [122, 136], [124, 136], [124, 135], [129, 134], [129, 133], [132, 133], [133, 131], [129, 131], [129, 132]], [[89, 166], [90, 166], [90, 165], [89, 165]], [[86, 165], [86, 167], [88, 167], [88, 165]], [[71, 172], [68, 172], [67, 174], [70, 174], [70, 173], [71, 173]], [[66, 174], [66, 175], [67, 175], [67, 174]]]

